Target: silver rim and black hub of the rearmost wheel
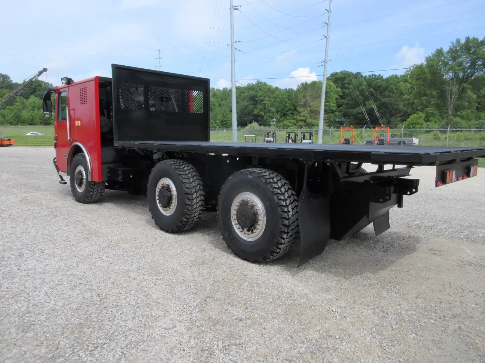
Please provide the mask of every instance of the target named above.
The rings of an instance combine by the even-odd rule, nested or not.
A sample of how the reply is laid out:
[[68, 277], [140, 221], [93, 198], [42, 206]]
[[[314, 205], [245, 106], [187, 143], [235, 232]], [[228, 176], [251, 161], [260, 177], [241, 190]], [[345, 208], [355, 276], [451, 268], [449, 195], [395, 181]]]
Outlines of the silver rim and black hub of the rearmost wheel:
[[239, 237], [256, 241], [266, 227], [266, 209], [253, 193], [241, 193], [232, 201], [231, 222]]

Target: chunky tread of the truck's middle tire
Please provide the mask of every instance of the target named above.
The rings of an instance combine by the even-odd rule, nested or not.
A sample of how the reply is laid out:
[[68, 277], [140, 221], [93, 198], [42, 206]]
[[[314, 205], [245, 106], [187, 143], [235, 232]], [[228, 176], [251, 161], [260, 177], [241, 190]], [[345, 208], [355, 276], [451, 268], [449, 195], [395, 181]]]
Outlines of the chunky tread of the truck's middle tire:
[[[162, 231], [169, 233], [183, 232], [193, 228], [202, 217], [202, 210], [204, 209], [205, 200], [204, 184], [194, 166], [185, 160], [164, 160], [154, 166], [151, 172], [153, 173], [153, 171], [157, 167], [160, 167], [162, 163], [169, 164], [175, 170], [177, 170], [177, 174], [182, 180], [185, 194], [185, 210], [180, 223], [173, 229], [162, 228], [162, 226], [160, 226], [153, 218], [153, 213], [151, 213], [151, 211], [150, 214], [152, 215], [152, 219], [154, 220], [155, 224], [162, 229]], [[148, 207], [148, 210], [149, 209], [150, 207]]]

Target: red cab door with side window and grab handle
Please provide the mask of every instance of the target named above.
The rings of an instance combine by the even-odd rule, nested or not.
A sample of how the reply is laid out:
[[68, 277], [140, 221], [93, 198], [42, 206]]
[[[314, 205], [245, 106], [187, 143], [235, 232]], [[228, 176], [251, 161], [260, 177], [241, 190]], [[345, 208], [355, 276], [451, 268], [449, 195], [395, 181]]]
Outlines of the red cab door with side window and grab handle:
[[57, 166], [60, 171], [66, 172], [67, 154], [72, 145], [71, 130], [69, 125], [69, 90], [61, 90], [56, 97], [55, 114], [55, 149]]

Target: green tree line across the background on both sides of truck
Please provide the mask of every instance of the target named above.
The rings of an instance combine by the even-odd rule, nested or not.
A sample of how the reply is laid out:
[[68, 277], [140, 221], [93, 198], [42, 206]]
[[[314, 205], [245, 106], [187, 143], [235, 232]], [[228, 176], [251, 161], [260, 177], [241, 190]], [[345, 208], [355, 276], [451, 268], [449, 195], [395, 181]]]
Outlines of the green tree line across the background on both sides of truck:
[[[19, 84], [0, 73], [0, 99]], [[50, 84], [34, 81], [0, 110], [0, 124], [52, 124], [41, 97]], [[237, 88], [238, 127], [254, 123], [282, 128], [316, 128], [322, 81], [296, 90], [257, 81]], [[456, 39], [436, 49], [403, 75], [384, 77], [341, 71], [327, 78], [325, 127], [406, 125], [407, 128], [485, 127], [485, 38]], [[210, 89], [210, 126], [231, 127], [231, 90]]]

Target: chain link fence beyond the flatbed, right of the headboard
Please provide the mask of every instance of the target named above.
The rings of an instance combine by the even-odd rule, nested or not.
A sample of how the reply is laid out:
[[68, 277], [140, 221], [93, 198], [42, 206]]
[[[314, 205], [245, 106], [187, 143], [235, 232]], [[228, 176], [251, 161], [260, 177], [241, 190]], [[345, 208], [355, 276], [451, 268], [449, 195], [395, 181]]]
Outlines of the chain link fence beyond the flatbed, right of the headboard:
[[[312, 132], [313, 142], [317, 143], [318, 129], [238, 129], [238, 141], [240, 142], [264, 142], [265, 131], [273, 130], [276, 132], [276, 142], [286, 141], [286, 132], [296, 132], [297, 142], [300, 142], [301, 132]], [[338, 144], [340, 140], [340, 128], [326, 128], [322, 130], [322, 142], [324, 144]], [[387, 130], [377, 130], [377, 135], [387, 133]], [[485, 128], [479, 129], [454, 129], [450, 125], [448, 128], [437, 129], [406, 129], [391, 128], [390, 143], [396, 145], [410, 145], [409, 139], [419, 140], [419, 146], [456, 146], [456, 147], [485, 147]], [[343, 130], [342, 137], [352, 139], [351, 130]], [[354, 144], [363, 145], [373, 143], [374, 130], [369, 127], [354, 128]], [[211, 141], [232, 141], [232, 129], [211, 128]]]

